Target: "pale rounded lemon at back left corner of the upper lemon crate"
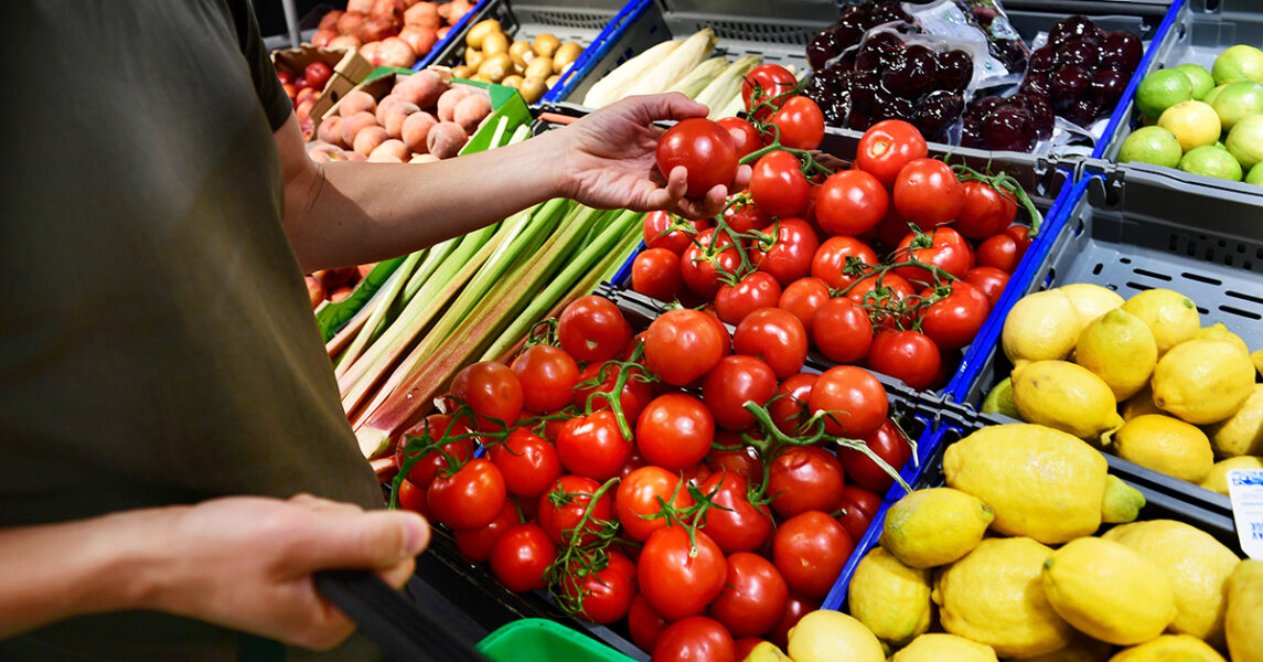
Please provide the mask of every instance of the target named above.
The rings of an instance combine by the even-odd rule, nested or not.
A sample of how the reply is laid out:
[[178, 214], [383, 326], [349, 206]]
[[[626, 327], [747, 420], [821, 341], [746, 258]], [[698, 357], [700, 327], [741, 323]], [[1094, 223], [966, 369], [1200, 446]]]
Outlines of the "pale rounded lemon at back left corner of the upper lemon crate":
[[1079, 341], [1082, 325], [1079, 310], [1060, 289], [1027, 294], [1004, 318], [1000, 345], [1004, 355], [1021, 365], [1026, 361], [1062, 359]]

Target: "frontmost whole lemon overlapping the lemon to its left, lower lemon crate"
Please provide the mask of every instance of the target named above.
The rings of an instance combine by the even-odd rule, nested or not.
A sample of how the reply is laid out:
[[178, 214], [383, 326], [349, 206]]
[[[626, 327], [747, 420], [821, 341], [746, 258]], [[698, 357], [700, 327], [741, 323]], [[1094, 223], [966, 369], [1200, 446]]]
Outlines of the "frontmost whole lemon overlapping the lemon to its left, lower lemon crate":
[[1147, 642], [1176, 618], [1171, 581], [1153, 561], [1095, 537], [1062, 546], [1043, 565], [1043, 590], [1061, 618], [1103, 642]]

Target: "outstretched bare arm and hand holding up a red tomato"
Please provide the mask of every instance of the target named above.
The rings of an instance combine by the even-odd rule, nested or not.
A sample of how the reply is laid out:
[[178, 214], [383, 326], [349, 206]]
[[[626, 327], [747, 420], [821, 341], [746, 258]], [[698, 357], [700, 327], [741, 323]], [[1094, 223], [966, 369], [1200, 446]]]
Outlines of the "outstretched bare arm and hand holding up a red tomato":
[[313, 163], [290, 116], [275, 134], [285, 232], [311, 272], [402, 255], [553, 197], [712, 216], [727, 191], [685, 198], [685, 168], [668, 182], [654, 157], [662, 134], [654, 121], [705, 115], [706, 106], [679, 93], [633, 97], [517, 145], [422, 164]]

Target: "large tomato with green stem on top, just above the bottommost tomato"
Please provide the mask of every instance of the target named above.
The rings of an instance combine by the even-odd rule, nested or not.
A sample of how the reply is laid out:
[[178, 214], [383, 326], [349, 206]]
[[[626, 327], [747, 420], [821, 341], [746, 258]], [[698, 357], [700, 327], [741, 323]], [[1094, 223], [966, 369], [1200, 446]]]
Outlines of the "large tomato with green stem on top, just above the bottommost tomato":
[[653, 532], [640, 550], [640, 593], [667, 620], [700, 614], [724, 590], [724, 552], [700, 531], [693, 532], [693, 541], [683, 527], [666, 527]]

